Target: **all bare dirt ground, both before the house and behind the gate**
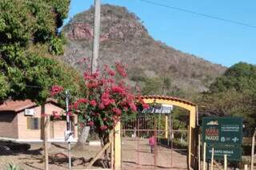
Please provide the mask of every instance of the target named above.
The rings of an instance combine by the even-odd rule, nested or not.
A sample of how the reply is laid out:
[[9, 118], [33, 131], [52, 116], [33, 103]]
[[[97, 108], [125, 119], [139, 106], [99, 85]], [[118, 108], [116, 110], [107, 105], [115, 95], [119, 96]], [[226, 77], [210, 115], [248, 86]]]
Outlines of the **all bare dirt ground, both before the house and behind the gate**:
[[[74, 144], [72, 144], [72, 147]], [[50, 170], [68, 169], [67, 144], [50, 144]], [[73, 169], [85, 169], [90, 159], [101, 149], [99, 146], [87, 146], [86, 151], [71, 150]], [[83, 158], [82, 158], [83, 157]], [[103, 157], [102, 157], [103, 158]], [[16, 164], [24, 170], [44, 169], [42, 143], [31, 144], [27, 152], [0, 152], [0, 169], [8, 164]], [[154, 161], [155, 160], [155, 161]], [[100, 160], [94, 168], [101, 168]], [[158, 146], [156, 154], [150, 152], [148, 140], [134, 138], [122, 139], [122, 169], [186, 169], [186, 155]]]

